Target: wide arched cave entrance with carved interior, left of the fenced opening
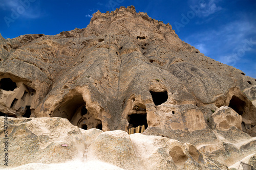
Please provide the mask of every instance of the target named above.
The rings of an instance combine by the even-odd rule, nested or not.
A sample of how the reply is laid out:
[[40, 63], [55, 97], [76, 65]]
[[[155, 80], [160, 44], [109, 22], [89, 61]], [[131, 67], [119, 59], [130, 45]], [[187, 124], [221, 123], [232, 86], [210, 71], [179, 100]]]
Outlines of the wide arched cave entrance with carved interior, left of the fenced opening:
[[102, 130], [101, 120], [94, 118], [86, 108], [82, 95], [76, 95], [64, 102], [53, 112], [53, 117], [67, 118], [74, 126], [89, 130], [97, 128]]

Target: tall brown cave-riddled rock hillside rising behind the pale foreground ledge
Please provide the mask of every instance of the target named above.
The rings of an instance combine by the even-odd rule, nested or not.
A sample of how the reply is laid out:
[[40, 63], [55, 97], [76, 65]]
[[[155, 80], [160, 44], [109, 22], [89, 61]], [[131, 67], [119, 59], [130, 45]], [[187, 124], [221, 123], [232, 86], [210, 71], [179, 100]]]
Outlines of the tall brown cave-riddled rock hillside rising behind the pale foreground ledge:
[[[14, 117], [58, 116], [84, 129], [127, 131], [135, 126], [129, 115], [141, 114], [148, 128], [160, 128], [159, 117], [175, 112], [168, 108], [194, 105], [202, 122], [184, 122], [179, 130], [186, 133], [186, 128], [204, 129], [198, 108], [213, 103], [256, 125], [255, 107], [241, 92], [256, 85], [254, 79], [205, 57], [181, 41], [172, 26], [134, 7], [98, 11], [84, 29], [1, 38], [0, 43], [0, 111]], [[6, 90], [10, 82], [17, 87]], [[84, 116], [80, 110], [86, 109]]]

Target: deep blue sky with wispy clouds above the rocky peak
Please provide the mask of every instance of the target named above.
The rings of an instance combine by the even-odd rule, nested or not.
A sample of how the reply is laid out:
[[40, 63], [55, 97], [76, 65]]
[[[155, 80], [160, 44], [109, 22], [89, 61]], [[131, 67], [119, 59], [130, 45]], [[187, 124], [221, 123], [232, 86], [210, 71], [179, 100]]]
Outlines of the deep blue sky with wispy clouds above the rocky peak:
[[55, 35], [86, 28], [92, 14], [133, 5], [170, 23], [181, 40], [201, 53], [256, 78], [255, 0], [0, 0], [0, 33]]

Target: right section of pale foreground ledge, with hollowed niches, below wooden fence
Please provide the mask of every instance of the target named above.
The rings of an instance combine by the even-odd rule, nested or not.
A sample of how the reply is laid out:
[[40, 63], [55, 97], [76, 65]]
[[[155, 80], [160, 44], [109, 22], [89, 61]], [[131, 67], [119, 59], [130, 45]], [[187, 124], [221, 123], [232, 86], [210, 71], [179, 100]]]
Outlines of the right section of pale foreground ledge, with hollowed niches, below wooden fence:
[[227, 169], [225, 165], [209, 160], [189, 143], [138, 133], [130, 137], [145, 169]]

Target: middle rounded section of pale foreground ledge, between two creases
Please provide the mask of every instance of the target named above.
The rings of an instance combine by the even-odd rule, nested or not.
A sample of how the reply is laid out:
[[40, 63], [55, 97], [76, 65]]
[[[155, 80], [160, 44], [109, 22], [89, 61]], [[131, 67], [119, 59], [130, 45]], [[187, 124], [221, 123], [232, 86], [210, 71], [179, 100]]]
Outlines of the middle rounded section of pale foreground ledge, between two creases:
[[106, 162], [123, 169], [141, 169], [130, 136], [124, 131], [99, 134], [88, 148], [87, 159]]

